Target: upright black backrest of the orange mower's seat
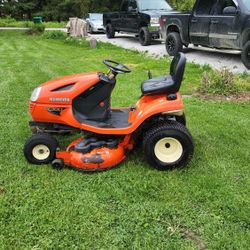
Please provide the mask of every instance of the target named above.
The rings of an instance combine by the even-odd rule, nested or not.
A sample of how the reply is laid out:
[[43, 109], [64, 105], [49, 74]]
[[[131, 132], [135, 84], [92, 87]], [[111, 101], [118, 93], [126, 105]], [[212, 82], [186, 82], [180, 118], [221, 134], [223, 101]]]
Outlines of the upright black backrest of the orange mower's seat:
[[174, 92], [178, 92], [181, 87], [186, 67], [186, 60], [187, 59], [183, 53], [178, 53], [171, 62], [170, 75], [174, 80]]

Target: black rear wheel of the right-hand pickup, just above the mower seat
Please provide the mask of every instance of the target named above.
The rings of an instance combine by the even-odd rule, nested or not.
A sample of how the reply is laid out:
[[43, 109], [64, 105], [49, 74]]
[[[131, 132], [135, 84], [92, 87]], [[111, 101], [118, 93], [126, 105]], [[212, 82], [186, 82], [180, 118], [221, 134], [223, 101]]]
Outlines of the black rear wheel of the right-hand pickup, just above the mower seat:
[[170, 56], [176, 56], [183, 50], [181, 36], [178, 32], [171, 32], [166, 39], [166, 50]]

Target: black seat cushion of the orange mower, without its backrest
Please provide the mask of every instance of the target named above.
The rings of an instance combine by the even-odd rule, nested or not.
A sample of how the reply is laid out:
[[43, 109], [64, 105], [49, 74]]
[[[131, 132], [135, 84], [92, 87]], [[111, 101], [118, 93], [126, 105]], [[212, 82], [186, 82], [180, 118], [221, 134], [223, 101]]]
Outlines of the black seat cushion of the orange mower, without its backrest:
[[172, 92], [174, 80], [171, 75], [161, 76], [146, 80], [142, 83], [141, 91], [143, 95], [156, 95]]

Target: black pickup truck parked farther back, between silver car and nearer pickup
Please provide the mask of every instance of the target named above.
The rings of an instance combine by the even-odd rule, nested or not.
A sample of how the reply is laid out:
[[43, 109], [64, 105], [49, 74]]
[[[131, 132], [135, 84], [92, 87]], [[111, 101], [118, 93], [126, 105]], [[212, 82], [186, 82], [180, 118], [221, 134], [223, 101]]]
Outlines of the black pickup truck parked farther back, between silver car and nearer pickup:
[[165, 0], [123, 0], [119, 12], [104, 13], [103, 25], [109, 39], [115, 32], [133, 33], [146, 46], [160, 38], [159, 18], [171, 11]]

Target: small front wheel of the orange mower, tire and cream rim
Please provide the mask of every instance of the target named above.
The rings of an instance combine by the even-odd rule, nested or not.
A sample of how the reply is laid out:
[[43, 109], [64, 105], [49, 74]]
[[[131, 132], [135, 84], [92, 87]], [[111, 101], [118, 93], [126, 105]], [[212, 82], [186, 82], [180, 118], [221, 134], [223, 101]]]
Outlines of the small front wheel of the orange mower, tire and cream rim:
[[24, 145], [24, 156], [36, 165], [48, 164], [55, 159], [58, 142], [50, 134], [32, 135]]

